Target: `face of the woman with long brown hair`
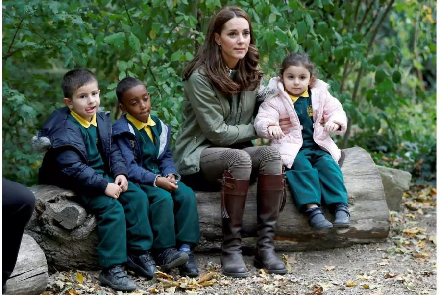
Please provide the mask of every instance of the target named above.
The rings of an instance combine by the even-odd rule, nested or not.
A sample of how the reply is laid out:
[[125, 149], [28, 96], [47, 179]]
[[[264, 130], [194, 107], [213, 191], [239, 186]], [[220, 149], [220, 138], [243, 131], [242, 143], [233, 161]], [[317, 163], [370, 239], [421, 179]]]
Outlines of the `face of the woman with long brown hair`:
[[228, 68], [235, 68], [248, 52], [251, 41], [248, 22], [234, 17], [223, 25], [221, 35], [215, 33], [215, 41], [221, 46], [222, 57]]

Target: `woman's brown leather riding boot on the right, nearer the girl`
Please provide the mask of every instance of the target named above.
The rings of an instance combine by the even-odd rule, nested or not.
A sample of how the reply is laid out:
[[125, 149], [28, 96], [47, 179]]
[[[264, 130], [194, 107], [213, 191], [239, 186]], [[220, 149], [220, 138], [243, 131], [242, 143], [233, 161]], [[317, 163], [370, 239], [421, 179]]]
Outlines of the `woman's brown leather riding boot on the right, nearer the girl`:
[[257, 251], [254, 266], [267, 273], [285, 274], [285, 263], [274, 252], [274, 236], [279, 213], [285, 206], [285, 173], [259, 174], [257, 182]]

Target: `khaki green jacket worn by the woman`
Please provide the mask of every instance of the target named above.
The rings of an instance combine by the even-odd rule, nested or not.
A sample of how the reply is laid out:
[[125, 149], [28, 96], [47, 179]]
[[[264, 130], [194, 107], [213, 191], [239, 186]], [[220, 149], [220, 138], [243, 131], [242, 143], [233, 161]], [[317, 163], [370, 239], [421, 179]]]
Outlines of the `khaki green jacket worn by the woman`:
[[198, 172], [200, 154], [208, 147], [226, 147], [258, 138], [252, 123], [256, 90], [239, 95], [238, 110], [234, 112], [239, 120], [236, 125], [227, 125], [232, 95], [216, 89], [203, 75], [203, 69], [184, 81], [182, 124], [172, 150], [179, 174]]

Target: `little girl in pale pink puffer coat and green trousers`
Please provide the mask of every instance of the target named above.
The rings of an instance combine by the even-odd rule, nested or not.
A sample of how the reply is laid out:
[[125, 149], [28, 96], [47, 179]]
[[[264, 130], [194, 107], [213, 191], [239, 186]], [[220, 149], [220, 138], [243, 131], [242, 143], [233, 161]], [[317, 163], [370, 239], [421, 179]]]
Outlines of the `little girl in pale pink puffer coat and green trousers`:
[[[288, 55], [280, 76], [270, 80], [268, 88], [274, 95], [261, 104], [254, 128], [280, 151], [294, 203], [306, 214], [309, 225], [319, 230], [348, 227], [347, 192], [338, 165], [340, 149], [329, 136], [346, 131], [346, 113], [329, 93], [329, 85], [314, 79], [314, 72], [307, 54]], [[279, 126], [283, 118], [289, 118], [292, 125], [287, 134]], [[334, 224], [324, 217], [322, 203], [335, 215]]]

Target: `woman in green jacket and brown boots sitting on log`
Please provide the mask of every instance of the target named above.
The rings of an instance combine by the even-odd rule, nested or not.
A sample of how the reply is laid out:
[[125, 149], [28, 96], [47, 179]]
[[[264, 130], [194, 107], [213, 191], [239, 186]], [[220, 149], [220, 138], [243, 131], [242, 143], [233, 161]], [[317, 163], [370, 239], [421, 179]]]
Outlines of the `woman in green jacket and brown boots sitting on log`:
[[193, 188], [200, 189], [196, 182], [201, 180], [205, 188], [216, 187], [221, 180], [221, 264], [223, 273], [233, 277], [247, 276], [240, 231], [250, 179], [256, 177], [254, 264], [268, 273], [287, 272], [273, 245], [285, 203], [282, 159], [275, 148], [251, 143], [258, 138], [252, 118], [262, 76], [249, 16], [238, 7], [222, 8], [184, 71], [183, 122], [173, 156], [183, 180]]

